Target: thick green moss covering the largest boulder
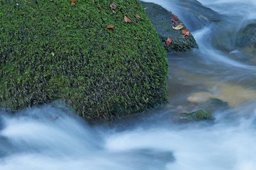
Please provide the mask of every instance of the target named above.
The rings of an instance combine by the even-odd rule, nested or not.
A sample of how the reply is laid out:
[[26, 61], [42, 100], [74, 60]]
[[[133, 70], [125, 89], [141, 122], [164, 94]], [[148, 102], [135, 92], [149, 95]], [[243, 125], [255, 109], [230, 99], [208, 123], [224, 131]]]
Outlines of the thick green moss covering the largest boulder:
[[0, 106], [59, 99], [95, 121], [166, 102], [166, 52], [140, 3], [75, 3], [0, 1]]

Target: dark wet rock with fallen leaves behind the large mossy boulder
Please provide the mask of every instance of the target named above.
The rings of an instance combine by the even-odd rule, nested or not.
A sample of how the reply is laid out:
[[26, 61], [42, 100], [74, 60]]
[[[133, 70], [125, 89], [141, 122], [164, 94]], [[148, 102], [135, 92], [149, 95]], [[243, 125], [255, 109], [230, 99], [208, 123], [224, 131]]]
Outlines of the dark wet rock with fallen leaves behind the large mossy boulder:
[[[148, 18], [155, 27], [159, 38], [162, 41], [164, 49], [170, 52], [184, 52], [198, 47], [195, 38], [190, 33], [188, 36], [184, 36], [182, 34], [182, 29], [186, 29], [186, 26], [184, 26], [184, 24], [183, 27], [180, 29], [173, 29], [174, 23], [171, 20], [171, 16], [174, 15], [172, 14], [172, 12], [164, 9], [159, 4], [145, 3], [142, 1], [140, 1], [140, 3], [142, 4], [143, 8], [145, 8], [145, 12], [148, 15]], [[182, 21], [179, 19], [177, 19], [177, 21], [179, 21], [179, 23], [182, 23]], [[172, 38], [172, 43], [170, 43], [170, 45], [166, 44], [167, 38]]]

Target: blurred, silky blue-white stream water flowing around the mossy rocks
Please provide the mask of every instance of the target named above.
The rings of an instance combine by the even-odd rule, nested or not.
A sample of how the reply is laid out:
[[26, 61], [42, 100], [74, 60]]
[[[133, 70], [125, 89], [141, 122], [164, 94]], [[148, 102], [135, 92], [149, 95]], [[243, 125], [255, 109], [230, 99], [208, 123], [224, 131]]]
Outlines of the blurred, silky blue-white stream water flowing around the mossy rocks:
[[[255, 169], [256, 53], [239, 35], [250, 36], [241, 30], [256, 23], [256, 1], [202, 0], [208, 8], [185, 0], [150, 2], [180, 16], [199, 46], [166, 56], [168, 104], [111, 125], [88, 125], [51, 105], [1, 111], [1, 170]], [[212, 112], [213, 122], [175, 120], [209, 97], [229, 107]]]

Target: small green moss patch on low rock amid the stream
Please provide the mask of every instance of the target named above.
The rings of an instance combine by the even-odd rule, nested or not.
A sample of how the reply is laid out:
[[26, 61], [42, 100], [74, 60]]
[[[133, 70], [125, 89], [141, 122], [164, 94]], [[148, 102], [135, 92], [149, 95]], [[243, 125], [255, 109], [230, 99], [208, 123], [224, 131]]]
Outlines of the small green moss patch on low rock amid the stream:
[[184, 112], [180, 114], [183, 118], [188, 121], [205, 121], [205, 120], [212, 120], [211, 114], [207, 114], [206, 112], [199, 110], [195, 112]]

